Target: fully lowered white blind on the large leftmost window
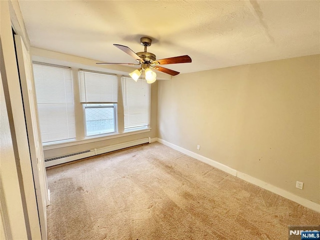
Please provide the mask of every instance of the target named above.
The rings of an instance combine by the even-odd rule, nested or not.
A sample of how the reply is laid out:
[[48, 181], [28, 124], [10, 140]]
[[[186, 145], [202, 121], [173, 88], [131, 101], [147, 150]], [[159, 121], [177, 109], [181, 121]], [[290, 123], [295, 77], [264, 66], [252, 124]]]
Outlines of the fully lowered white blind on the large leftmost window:
[[33, 63], [42, 143], [75, 138], [71, 69]]

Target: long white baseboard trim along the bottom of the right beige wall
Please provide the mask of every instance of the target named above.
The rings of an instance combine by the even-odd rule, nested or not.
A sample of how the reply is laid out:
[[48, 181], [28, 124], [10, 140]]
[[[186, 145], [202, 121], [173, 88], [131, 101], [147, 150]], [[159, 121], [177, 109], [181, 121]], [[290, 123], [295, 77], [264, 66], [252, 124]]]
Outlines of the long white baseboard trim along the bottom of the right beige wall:
[[[155, 139], [155, 138], [152, 138], [152, 139]], [[151, 142], [153, 142], [152, 139], [151, 139]], [[171, 147], [171, 148], [173, 148], [173, 149], [175, 149], [175, 150], [177, 150], [179, 152], [182, 152], [185, 155], [191, 156], [191, 157], [193, 157], [195, 159], [198, 159], [198, 160], [200, 160], [202, 162], [205, 162], [205, 163], [207, 163], [207, 164], [209, 164], [209, 165], [211, 165], [211, 166], [213, 166], [215, 168], [218, 168], [218, 169], [220, 169], [220, 170], [222, 170], [222, 171], [224, 171], [226, 173], [229, 173], [230, 175], [236, 176], [236, 177], [238, 177], [238, 178], [240, 178], [242, 180], [245, 180], [245, 181], [247, 181], [249, 183], [257, 185], [257, 186], [259, 186], [259, 187], [261, 187], [263, 189], [266, 189], [266, 190], [271, 191], [271, 192], [273, 192], [275, 194], [283, 196], [283, 197], [285, 197], [285, 198], [287, 198], [287, 199], [289, 199], [291, 201], [294, 201], [294, 202], [296, 202], [296, 203], [298, 203], [298, 204], [300, 204], [302, 206], [305, 206], [305, 207], [307, 207], [309, 209], [312, 209], [314, 211], [320, 212], [320, 204], [317, 204], [317, 203], [315, 203], [313, 201], [305, 199], [305, 198], [303, 198], [301, 196], [295, 195], [295, 194], [293, 194], [291, 192], [288, 192], [288, 191], [286, 191], [286, 190], [284, 190], [282, 188], [279, 188], [277, 186], [273, 186], [270, 183], [262, 181], [262, 180], [260, 180], [258, 178], [255, 178], [255, 177], [250, 176], [248, 174], [245, 174], [243, 172], [237, 171], [237, 170], [235, 170], [235, 169], [233, 169], [233, 168], [231, 168], [231, 167], [229, 167], [227, 165], [224, 165], [224, 164], [222, 164], [220, 162], [214, 161], [214, 160], [212, 160], [212, 159], [210, 159], [208, 157], [202, 156], [202, 155], [197, 154], [197, 153], [195, 153], [193, 151], [187, 150], [187, 149], [185, 149], [183, 147], [177, 146], [177, 145], [175, 145], [175, 144], [173, 144], [171, 142], [168, 142], [166, 140], [163, 140], [161, 138], [156, 138], [156, 141], [158, 141], [158, 142], [160, 142], [160, 143], [162, 143], [162, 144], [164, 144], [166, 146], [169, 146], [169, 147]]]

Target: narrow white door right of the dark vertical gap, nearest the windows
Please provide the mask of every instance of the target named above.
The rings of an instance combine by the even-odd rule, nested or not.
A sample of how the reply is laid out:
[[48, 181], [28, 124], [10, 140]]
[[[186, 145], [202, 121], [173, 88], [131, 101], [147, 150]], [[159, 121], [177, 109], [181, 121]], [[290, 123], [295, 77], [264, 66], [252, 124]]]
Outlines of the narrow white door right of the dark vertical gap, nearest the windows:
[[44, 157], [37, 117], [36, 98], [30, 55], [26, 50], [22, 38], [14, 35], [16, 54], [19, 67], [19, 76], [22, 90], [25, 122], [30, 148], [33, 179], [35, 185], [36, 201], [40, 220], [41, 238], [47, 239], [46, 206], [49, 204], [47, 193]]

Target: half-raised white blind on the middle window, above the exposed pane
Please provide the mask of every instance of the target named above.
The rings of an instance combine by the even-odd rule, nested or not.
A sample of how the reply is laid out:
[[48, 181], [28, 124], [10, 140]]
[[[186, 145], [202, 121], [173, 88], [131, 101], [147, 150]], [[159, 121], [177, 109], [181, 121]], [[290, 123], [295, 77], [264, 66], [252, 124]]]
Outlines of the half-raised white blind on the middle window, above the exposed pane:
[[80, 70], [80, 100], [86, 103], [116, 103], [117, 76]]

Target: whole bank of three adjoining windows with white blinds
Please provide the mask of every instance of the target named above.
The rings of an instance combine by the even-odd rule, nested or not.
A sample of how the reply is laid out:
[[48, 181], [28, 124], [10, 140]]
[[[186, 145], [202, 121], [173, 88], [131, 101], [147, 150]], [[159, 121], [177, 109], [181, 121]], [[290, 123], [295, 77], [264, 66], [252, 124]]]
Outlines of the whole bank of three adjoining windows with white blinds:
[[130, 135], [150, 125], [151, 87], [145, 80], [40, 62], [33, 62], [33, 74], [43, 145]]

